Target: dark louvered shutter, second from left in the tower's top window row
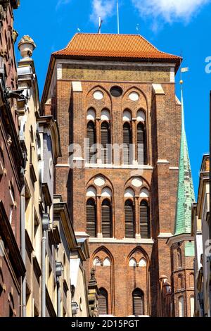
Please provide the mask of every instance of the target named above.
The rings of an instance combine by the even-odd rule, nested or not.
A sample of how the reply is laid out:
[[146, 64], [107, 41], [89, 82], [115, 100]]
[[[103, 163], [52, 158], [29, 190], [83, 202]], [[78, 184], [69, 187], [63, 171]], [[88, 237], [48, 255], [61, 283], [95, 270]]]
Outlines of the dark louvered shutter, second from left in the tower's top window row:
[[101, 145], [103, 146], [102, 149], [102, 163], [107, 164], [111, 163], [110, 159], [110, 127], [107, 122], [103, 122], [101, 125]]

